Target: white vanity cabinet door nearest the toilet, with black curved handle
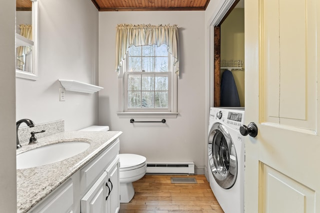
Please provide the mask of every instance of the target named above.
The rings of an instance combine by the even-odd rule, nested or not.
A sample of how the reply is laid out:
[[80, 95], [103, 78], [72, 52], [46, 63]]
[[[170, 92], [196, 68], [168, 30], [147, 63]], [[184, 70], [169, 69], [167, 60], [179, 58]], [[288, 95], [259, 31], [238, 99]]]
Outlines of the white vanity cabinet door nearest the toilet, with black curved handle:
[[119, 185], [119, 156], [117, 156], [106, 169], [110, 188], [107, 198], [107, 213], [117, 213], [120, 209], [120, 185]]

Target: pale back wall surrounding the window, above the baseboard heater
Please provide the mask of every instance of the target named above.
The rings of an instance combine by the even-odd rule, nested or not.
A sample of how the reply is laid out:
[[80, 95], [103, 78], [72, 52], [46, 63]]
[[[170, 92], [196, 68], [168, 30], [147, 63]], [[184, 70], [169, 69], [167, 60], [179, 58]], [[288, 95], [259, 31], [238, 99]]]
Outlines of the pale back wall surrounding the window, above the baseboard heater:
[[[130, 124], [118, 118], [115, 28], [118, 23], [178, 24], [180, 79], [178, 117], [166, 124]], [[193, 161], [203, 174], [205, 143], [204, 11], [99, 12], [99, 124], [123, 132], [120, 153], [147, 161]], [[159, 119], [160, 120], [160, 119]]]

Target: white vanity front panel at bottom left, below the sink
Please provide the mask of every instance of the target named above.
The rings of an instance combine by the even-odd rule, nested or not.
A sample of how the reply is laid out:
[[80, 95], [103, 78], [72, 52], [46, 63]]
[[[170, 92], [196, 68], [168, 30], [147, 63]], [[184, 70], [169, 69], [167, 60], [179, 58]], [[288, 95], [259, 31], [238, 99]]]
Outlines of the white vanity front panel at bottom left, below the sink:
[[[31, 210], [31, 213], [69, 213], [73, 205], [73, 184], [69, 179], [54, 190], [47, 199]], [[71, 211], [72, 212], [72, 211]]]

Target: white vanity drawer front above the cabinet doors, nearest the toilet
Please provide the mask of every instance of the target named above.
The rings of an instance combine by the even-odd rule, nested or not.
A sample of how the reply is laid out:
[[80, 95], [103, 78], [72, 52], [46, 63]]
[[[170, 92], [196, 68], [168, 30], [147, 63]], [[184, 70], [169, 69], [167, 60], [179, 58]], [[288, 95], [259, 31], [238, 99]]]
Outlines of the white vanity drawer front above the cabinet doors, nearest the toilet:
[[97, 180], [112, 159], [115, 158], [119, 153], [119, 149], [119, 139], [116, 139], [116, 141], [113, 142], [110, 147], [108, 147], [80, 171], [82, 188], [81, 192], [85, 192], [86, 189], [88, 189], [93, 182]]

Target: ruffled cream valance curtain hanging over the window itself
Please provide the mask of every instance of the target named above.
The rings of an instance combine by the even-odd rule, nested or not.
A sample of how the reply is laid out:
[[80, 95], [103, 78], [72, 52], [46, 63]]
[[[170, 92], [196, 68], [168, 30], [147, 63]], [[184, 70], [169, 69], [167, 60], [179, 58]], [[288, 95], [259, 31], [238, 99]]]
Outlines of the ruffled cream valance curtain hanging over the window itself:
[[118, 72], [125, 59], [128, 48], [132, 45], [167, 45], [168, 52], [173, 56], [175, 73], [179, 74], [178, 55], [178, 26], [177, 25], [150, 25], [150, 24], [118, 24], [116, 26], [116, 55], [115, 69]]

